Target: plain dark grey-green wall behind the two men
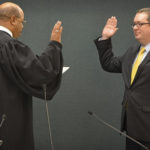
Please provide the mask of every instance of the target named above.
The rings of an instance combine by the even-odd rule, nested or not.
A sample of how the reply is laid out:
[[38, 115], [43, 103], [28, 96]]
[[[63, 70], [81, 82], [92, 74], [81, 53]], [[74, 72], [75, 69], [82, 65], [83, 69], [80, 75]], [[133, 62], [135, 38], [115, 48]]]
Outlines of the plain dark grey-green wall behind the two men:
[[[124, 150], [125, 138], [88, 115], [120, 129], [124, 83], [121, 74], [102, 70], [93, 40], [111, 16], [118, 19], [113, 37], [116, 56], [134, 42], [131, 28], [136, 10], [149, 6], [149, 0], [10, 0], [21, 6], [27, 23], [20, 41], [36, 54], [45, 49], [52, 28], [62, 21], [64, 66], [60, 90], [48, 102], [55, 150]], [[6, 2], [1, 0], [1, 3]], [[45, 101], [33, 98], [36, 150], [51, 150]]]

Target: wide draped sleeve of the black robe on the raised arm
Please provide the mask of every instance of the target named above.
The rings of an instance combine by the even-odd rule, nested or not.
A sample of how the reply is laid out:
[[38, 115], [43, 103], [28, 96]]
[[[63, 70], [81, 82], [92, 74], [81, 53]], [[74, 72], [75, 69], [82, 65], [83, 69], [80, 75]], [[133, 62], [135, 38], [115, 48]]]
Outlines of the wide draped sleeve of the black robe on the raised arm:
[[51, 41], [40, 56], [15, 39], [6, 42], [0, 49], [2, 68], [19, 88], [29, 95], [44, 98], [45, 85], [47, 99], [52, 99], [60, 87], [62, 77], [60, 43]]

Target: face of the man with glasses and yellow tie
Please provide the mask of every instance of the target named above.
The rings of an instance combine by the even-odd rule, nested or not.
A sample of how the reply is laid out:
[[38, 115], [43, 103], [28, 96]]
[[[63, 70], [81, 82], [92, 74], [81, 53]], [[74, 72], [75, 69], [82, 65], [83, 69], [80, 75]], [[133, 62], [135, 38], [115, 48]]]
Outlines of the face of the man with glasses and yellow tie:
[[142, 45], [150, 42], [150, 22], [147, 18], [147, 13], [137, 13], [133, 21], [134, 36]]

